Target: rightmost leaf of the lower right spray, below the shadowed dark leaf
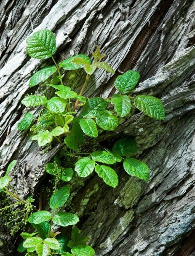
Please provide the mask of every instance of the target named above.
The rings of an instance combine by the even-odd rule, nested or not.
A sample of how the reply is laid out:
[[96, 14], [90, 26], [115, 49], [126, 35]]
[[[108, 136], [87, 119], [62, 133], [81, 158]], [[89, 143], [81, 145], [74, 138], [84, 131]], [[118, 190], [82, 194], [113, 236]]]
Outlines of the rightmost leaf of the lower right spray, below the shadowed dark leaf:
[[134, 158], [126, 158], [123, 162], [123, 167], [129, 175], [149, 181], [150, 169], [145, 163]]

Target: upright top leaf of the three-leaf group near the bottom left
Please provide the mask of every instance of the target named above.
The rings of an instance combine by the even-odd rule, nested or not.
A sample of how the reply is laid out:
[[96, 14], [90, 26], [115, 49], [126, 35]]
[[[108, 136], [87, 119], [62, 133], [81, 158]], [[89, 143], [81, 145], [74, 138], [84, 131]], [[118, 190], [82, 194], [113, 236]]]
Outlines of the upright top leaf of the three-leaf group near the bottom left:
[[57, 209], [62, 207], [70, 194], [70, 188], [68, 186], [63, 186], [61, 189], [57, 190], [49, 200], [49, 206], [51, 209]]

